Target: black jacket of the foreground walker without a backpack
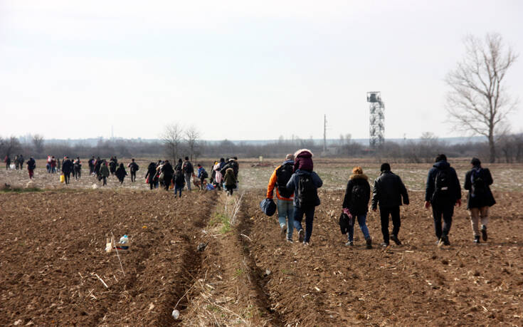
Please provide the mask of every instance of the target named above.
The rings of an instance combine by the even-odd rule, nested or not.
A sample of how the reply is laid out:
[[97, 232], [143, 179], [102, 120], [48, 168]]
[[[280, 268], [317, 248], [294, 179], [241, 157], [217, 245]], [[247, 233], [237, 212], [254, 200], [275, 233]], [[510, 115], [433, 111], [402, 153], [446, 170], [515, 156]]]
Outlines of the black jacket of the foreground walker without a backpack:
[[401, 178], [390, 170], [381, 172], [381, 175], [374, 181], [372, 209], [376, 209], [378, 204], [384, 208], [401, 206], [401, 197], [403, 197], [403, 203], [408, 204], [407, 189]]

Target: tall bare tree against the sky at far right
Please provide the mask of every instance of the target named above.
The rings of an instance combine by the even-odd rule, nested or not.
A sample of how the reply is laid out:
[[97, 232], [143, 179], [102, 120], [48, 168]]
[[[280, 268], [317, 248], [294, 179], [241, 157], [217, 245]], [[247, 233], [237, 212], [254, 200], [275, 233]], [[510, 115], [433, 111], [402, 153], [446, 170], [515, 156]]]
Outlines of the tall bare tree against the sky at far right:
[[485, 135], [489, 142], [490, 162], [495, 162], [497, 125], [517, 107], [504, 88], [504, 77], [518, 55], [503, 43], [497, 33], [485, 41], [465, 38], [465, 58], [450, 71], [445, 82], [450, 86], [447, 110], [456, 128]]

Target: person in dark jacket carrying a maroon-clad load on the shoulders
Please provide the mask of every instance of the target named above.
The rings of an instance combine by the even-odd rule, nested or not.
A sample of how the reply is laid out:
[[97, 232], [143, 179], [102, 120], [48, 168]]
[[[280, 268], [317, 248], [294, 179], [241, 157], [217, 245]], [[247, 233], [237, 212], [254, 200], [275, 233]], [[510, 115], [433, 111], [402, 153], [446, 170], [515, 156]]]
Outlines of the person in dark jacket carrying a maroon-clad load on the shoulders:
[[[296, 165], [296, 163], [298, 164]], [[312, 170], [312, 152], [307, 149], [295, 152], [295, 172], [287, 182], [287, 190], [294, 191], [294, 226], [298, 232], [298, 240], [304, 245], [310, 245], [312, 237], [312, 224], [315, 217], [315, 208], [319, 206], [318, 188], [322, 187], [323, 181], [316, 172]], [[302, 227], [302, 219], [305, 214], [305, 237]]]

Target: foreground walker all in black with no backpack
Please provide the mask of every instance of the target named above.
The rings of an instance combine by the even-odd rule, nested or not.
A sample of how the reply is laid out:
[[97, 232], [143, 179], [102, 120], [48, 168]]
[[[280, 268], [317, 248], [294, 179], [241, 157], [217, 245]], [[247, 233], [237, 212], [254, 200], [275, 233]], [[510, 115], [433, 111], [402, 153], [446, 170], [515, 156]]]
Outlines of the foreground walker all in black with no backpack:
[[401, 198], [403, 204], [408, 205], [408, 193], [401, 178], [391, 172], [391, 165], [384, 163], [380, 167], [381, 175], [374, 181], [372, 192], [372, 210], [376, 212], [379, 205], [379, 217], [381, 219], [381, 234], [384, 242], [382, 246], [389, 246], [389, 215], [392, 218], [392, 235], [390, 239], [397, 245], [401, 245], [398, 239], [401, 219], [399, 216], [399, 207]]

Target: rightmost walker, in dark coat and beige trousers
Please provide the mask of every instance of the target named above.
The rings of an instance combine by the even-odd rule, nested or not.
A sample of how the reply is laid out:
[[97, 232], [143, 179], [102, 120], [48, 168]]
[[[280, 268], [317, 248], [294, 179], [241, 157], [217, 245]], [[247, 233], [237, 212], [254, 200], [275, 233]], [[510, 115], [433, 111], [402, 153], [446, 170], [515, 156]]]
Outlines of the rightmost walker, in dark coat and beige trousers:
[[481, 167], [481, 161], [472, 158], [470, 161], [472, 169], [465, 175], [465, 185], [463, 188], [468, 190], [467, 209], [470, 210], [470, 224], [474, 233], [474, 243], [480, 243], [480, 229], [477, 228], [481, 217], [481, 237], [487, 242], [487, 224], [489, 217], [489, 207], [496, 204], [494, 195], [490, 190], [492, 185], [492, 175], [488, 168]]

